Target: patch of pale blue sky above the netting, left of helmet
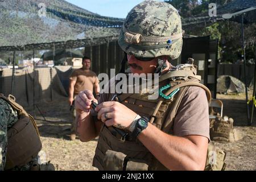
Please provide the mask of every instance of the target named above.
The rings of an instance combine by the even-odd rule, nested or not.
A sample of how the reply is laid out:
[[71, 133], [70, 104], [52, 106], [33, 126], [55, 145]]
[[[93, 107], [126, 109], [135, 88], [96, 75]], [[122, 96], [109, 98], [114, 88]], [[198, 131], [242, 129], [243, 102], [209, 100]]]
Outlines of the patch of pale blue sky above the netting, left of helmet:
[[143, 0], [65, 0], [102, 16], [125, 18], [129, 11]]

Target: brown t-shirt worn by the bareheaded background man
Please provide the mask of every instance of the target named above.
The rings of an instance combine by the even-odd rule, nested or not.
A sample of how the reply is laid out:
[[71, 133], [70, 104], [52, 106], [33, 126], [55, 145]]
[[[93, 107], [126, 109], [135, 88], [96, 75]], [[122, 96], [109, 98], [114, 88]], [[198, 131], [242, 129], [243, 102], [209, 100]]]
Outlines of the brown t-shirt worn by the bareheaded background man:
[[98, 84], [99, 82], [96, 73], [90, 70], [85, 71], [81, 68], [73, 71], [69, 79], [76, 81], [74, 88], [75, 95], [79, 94], [79, 92], [82, 92], [84, 90], [90, 90], [93, 92], [94, 85]]

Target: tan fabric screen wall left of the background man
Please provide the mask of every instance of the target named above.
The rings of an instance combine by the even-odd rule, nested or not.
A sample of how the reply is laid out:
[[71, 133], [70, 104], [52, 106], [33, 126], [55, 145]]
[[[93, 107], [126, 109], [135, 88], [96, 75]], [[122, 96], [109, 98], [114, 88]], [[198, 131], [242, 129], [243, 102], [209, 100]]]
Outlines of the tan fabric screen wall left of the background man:
[[[15, 71], [13, 95], [19, 104], [30, 106], [42, 101], [51, 102], [68, 96], [68, 78], [73, 72], [70, 66], [56, 68], [32, 68]], [[11, 93], [13, 71], [3, 69], [0, 77], [0, 93]], [[34, 89], [31, 89], [34, 88]]]

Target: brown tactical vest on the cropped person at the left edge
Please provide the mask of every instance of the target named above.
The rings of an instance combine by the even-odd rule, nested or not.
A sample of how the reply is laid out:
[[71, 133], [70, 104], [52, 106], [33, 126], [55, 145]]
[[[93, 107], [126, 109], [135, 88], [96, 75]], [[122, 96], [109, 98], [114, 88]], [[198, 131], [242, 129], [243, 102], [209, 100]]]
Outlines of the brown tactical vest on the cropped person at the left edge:
[[29, 163], [42, 149], [42, 143], [34, 118], [15, 102], [15, 97], [0, 94], [0, 98], [18, 112], [18, 121], [7, 131], [5, 170], [8, 170]]

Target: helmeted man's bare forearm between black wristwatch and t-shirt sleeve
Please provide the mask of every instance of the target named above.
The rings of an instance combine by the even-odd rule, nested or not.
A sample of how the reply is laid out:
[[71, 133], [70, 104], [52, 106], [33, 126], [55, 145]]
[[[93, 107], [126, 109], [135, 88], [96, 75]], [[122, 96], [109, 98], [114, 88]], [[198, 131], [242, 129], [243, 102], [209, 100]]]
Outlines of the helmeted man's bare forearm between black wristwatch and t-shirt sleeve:
[[175, 137], [149, 124], [138, 139], [170, 170], [201, 171], [205, 168], [208, 148], [206, 137]]

